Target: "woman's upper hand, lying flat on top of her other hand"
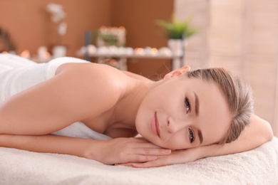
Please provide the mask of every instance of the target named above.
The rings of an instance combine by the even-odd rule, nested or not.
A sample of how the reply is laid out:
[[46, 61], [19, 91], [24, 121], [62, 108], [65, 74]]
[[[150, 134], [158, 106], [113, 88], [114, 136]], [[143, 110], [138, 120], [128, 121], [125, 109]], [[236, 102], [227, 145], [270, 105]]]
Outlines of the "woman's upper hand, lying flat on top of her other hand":
[[150, 162], [158, 159], [158, 157], [167, 156], [171, 153], [170, 149], [163, 149], [145, 139], [134, 137], [103, 141], [98, 147], [92, 146], [90, 150], [85, 157], [88, 159], [96, 159], [103, 164]]

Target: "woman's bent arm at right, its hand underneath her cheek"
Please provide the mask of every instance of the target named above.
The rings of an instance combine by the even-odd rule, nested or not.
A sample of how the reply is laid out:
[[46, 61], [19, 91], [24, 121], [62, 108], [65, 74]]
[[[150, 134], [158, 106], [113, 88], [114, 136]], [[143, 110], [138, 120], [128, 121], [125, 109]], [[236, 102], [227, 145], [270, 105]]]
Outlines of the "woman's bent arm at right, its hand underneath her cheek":
[[153, 162], [132, 165], [134, 167], [165, 166], [193, 162], [205, 157], [235, 154], [259, 147], [265, 142], [272, 140], [272, 138], [273, 132], [269, 123], [262, 120], [262, 118], [253, 115], [249, 126], [245, 127], [244, 131], [235, 142], [224, 144], [223, 146], [212, 144], [210, 146], [177, 150], [173, 151], [169, 156], [158, 157], [158, 159]]

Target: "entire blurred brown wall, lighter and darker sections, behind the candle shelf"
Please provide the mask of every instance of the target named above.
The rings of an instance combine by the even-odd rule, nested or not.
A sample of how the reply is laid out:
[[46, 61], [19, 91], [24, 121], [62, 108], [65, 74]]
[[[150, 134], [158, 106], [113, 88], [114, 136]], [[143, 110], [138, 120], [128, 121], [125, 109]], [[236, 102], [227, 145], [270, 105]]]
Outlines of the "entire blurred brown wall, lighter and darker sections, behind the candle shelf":
[[[170, 18], [173, 0], [0, 0], [0, 26], [10, 32], [16, 43], [17, 53], [28, 49], [36, 54], [39, 46], [58, 43], [56, 24], [51, 22], [46, 5], [54, 2], [63, 5], [66, 11], [68, 31], [62, 43], [68, 46], [68, 56], [76, 56], [83, 46], [84, 32], [100, 26], [125, 26], [127, 46], [167, 46], [167, 40], [159, 35], [155, 25], [158, 18]], [[128, 70], [145, 76], [160, 75], [170, 68], [169, 60], [131, 60]]]

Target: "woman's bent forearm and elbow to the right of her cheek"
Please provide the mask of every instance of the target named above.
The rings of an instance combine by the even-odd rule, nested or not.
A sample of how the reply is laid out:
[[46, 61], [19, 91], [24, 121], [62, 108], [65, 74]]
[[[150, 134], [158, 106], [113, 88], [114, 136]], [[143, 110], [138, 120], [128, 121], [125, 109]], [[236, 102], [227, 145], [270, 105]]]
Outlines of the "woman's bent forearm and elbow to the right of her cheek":
[[200, 147], [198, 154], [200, 154], [200, 158], [204, 158], [245, 152], [259, 147], [265, 142], [272, 140], [272, 138], [273, 132], [269, 123], [253, 115], [250, 124], [244, 129], [237, 140], [224, 144], [223, 146], [213, 144]]

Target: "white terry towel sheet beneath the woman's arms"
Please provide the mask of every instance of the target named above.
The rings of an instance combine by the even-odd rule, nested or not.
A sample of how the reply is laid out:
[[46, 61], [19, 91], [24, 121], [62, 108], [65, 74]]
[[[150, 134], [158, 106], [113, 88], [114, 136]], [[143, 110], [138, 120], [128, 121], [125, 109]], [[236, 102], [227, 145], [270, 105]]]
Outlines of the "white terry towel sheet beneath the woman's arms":
[[0, 184], [278, 184], [278, 139], [240, 154], [150, 169], [0, 147]]

